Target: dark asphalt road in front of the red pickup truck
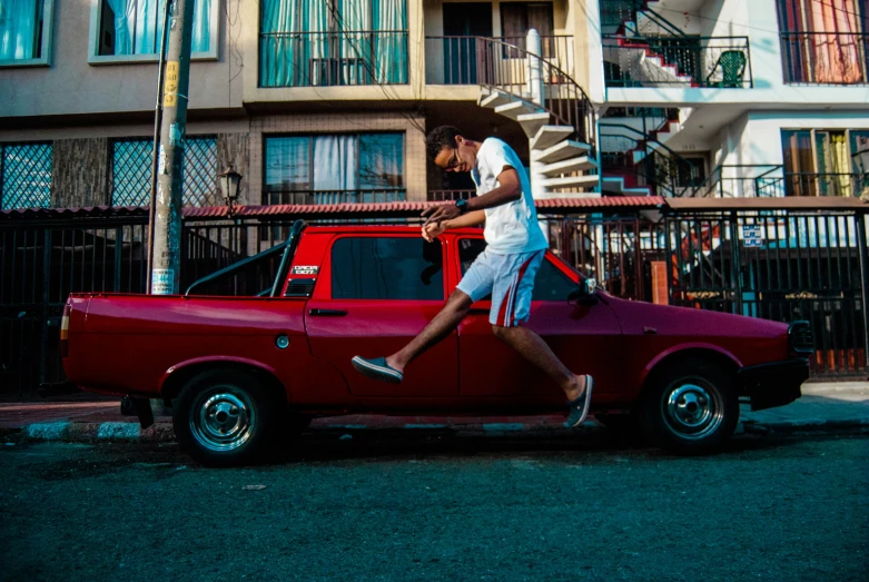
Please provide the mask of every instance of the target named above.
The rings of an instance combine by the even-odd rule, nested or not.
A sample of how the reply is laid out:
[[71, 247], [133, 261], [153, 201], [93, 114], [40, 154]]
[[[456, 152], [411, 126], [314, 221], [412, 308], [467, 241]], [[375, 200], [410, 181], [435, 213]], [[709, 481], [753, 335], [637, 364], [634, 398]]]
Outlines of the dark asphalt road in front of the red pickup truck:
[[340, 436], [234, 470], [0, 446], [0, 579], [869, 580], [866, 436]]

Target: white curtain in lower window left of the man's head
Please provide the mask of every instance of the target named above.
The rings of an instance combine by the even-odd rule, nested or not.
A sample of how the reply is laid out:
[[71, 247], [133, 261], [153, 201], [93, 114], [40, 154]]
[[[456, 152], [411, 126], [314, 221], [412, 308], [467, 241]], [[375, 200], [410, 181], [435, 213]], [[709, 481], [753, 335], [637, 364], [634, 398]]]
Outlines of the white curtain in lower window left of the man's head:
[[356, 190], [356, 136], [314, 138], [314, 190], [327, 190], [316, 195], [315, 204], [345, 201], [342, 193]]

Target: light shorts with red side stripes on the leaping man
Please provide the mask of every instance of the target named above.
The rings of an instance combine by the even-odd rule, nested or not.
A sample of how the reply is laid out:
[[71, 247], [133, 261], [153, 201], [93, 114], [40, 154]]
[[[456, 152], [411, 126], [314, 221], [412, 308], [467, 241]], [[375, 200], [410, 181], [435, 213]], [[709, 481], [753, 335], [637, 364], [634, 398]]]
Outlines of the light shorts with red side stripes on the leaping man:
[[513, 327], [527, 322], [534, 277], [545, 254], [542, 249], [498, 255], [485, 249], [477, 255], [456, 288], [470, 295], [473, 302], [492, 294], [488, 313], [492, 325]]

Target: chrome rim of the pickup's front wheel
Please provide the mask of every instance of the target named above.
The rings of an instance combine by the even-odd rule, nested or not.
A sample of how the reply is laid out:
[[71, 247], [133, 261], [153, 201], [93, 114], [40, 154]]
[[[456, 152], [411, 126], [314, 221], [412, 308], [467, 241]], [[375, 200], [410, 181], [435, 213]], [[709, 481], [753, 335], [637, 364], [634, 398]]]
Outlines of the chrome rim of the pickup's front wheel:
[[680, 438], [703, 438], [724, 421], [724, 406], [718, 391], [691, 382], [673, 385], [661, 405], [664, 425]]

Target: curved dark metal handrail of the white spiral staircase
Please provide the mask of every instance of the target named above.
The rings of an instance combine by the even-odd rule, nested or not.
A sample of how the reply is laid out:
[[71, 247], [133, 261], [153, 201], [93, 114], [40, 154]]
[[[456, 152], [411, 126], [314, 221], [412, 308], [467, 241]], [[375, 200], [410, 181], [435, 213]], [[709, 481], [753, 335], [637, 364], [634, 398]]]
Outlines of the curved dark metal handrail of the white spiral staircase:
[[[448, 38], [448, 37], [444, 37], [444, 38]], [[551, 101], [550, 99], [543, 99], [543, 103], [541, 105], [534, 102], [530, 98], [522, 96], [521, 93], [516, 95], [512, 89], [506, 89], [506, 87], [525, 85], [526, 83], [525, 81], [523, 81], [522, 83], [517, 83], [517, 82], [498, 83], [496, 82], [495, 79], [496, 72], [502, 72], [510, 76], [510, 73], [512, 73], [514, 70], [513, 68], [506, 68], [500, 71], [495, 71], [494, 69], [486, 68], [484, 73], [481, 76], [481, 78], [477, 79], [480, 85], [491, 89], [498, 89], [505, 93], [508, 93], [511, 97], [515, 98], [516, 100], [527, 103], [529, 106], [540, 107], [542, 109], [545, 109], [555, 119], [555, 121], [557, 121], [561, 125], [572, 127], [576, 131], [576, 134], [579, 134], [581, 140], [584, 141], [585, 144], [589, 144], [592, 147], [591, 154], [595, 152], [596, 144], [595, 144], [595, 131], [594, 131], [595, 128], [594, 108], [592, 107], [592, 102], [591, 99], [589, 99], [589, 96], [585, 95], [585, 91], [582, 90], [582, 87], [580, 87], [580, 85], [573, 79], [573, 77], [571, 77], [566, 71], [564, 71], [556, 65], [553, 65], [552, 62], [547, 61], [545, 57], [530, 52], [521, 47], [516, 47], [515, 45], [510, 45], [508, 42], [504, 42], [502, 40], [492, 37], [476, 37], [476, 39], [478, 41], [482, 41], [482, 43], [490, 49], [497, 48], [502, 55], [505, 51], [511, 51], [521, 55], [522, 58], [524, 58], [525, 60], [536, 59], [541, 63], [541, 67], [544, 67], [549, 70], [549, 73], [544, 76], [544, 85], [554, 86], [554, 87], [560, 87], [560, 86], [567, 87], [569, 91], [572, 90], [577, 93], [577, 98], [572, 99], [570, 96], [567, 96], [566, 98], [560, 98], [556, 100], [560, 103], [560, 106], [556, 108], [549, 105]], [[493, 56], [495, 55], [495, 52], [490, 52], [490, 53]], [[485, 63], [494, 65], [494, 59], [486, 59]], [[551, 82], [551, 79], [553, 77], [557, 79], [563, 79], [563, 81]], [[549, 78], [550, 80], [549, 81], [545, 80], [546, 78]], [[571, 112], [570, 106], [567, 105], [566, 108], [564, 106], [564, 101], [570, 101], [570, 100], [579, 101], [580, 103], [582, 103], [583, 110], [581, 114], [577, 112], [575, 118], [572, 118], [572, 116], [570, 115]], [[582, 115], [582, 118], [585, 121], [583, 127], [580, 127], [579, 125], [580, 115]]]

